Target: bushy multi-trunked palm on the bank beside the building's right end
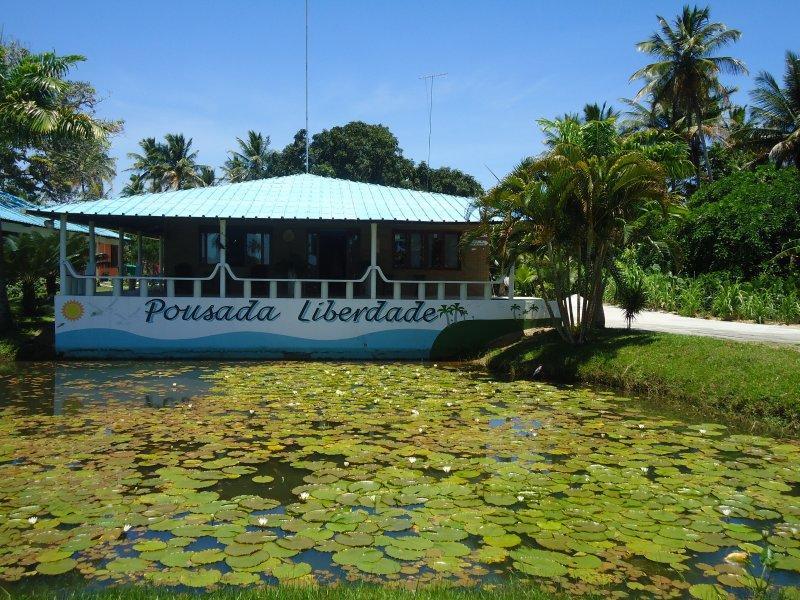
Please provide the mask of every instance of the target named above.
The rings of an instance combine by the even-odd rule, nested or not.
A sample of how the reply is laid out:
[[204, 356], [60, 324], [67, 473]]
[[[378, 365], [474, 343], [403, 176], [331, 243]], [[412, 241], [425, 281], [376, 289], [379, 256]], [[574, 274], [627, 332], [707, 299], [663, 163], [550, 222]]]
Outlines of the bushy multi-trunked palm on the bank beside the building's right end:
[[[529, 257], [538, 295], [559, 308], [555, 317], [546, 303], [554, 326], [567, 342], [583, 343], [602, 302], [608, 265], [632, 244], [643, 214], [673, 204], [667, 179], [681, 165], [685, 171], [686, 146], [620, 136], [613, 119], [577, 128], [574, 121], [542, 123], [552, 149], [479, 200], [482, 229], [501, 229], [507, 247]], [[574, 306], [573, 295], [579, 299]]]

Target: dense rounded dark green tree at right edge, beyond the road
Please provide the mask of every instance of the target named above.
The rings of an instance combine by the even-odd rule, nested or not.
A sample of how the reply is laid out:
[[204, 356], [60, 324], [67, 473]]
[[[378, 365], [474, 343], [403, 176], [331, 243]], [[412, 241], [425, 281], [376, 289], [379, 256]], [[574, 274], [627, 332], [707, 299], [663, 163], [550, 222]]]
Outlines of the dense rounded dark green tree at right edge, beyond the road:
[[675, 245], [688, 273], [730, 271], [753, 277], [765, 269], [791, 270], [775, 260], [787, 240], [800, 237], [800, 171], [762, 166], [704, 185], [674, 226]]

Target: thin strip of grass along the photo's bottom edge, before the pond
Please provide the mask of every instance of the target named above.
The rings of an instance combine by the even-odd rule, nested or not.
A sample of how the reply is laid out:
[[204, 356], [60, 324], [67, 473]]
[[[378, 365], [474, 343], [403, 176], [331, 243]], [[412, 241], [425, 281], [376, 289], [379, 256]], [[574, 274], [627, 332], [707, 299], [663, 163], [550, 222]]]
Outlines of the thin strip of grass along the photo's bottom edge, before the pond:
[[[1, 594], [1, 592], [0, 592]], [[225, 588], [205, 593], [173, 592], [151, 586], [125, 586], [104, 590], [43, 588], [34, 586], [10, 592], [14, 600], [568, 600], [571, 596], [544, 592], [531, 585], [504, 584], [495, 587], [436, 587], [418, 589], [340, 584], [335, 586], [260, 586]]]

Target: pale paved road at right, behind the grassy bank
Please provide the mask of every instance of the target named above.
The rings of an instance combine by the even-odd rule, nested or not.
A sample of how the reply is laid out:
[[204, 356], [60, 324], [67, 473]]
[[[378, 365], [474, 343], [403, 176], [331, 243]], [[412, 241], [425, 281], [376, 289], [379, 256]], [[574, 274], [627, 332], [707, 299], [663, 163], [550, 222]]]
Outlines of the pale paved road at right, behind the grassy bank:
[[[616, 306], [606, 306], [606, 326], [626, 327], [622, 310]], [[670, 313], [644, 311], [632, 324], [633, 329], [682, 333], [684, 335], [705, 335], [745, 342], [769, 342], [776, 344], [800, 345], [800, 327], [793, 325], [757, 325], [755, 323], [735, 323], [681, 317]]]

